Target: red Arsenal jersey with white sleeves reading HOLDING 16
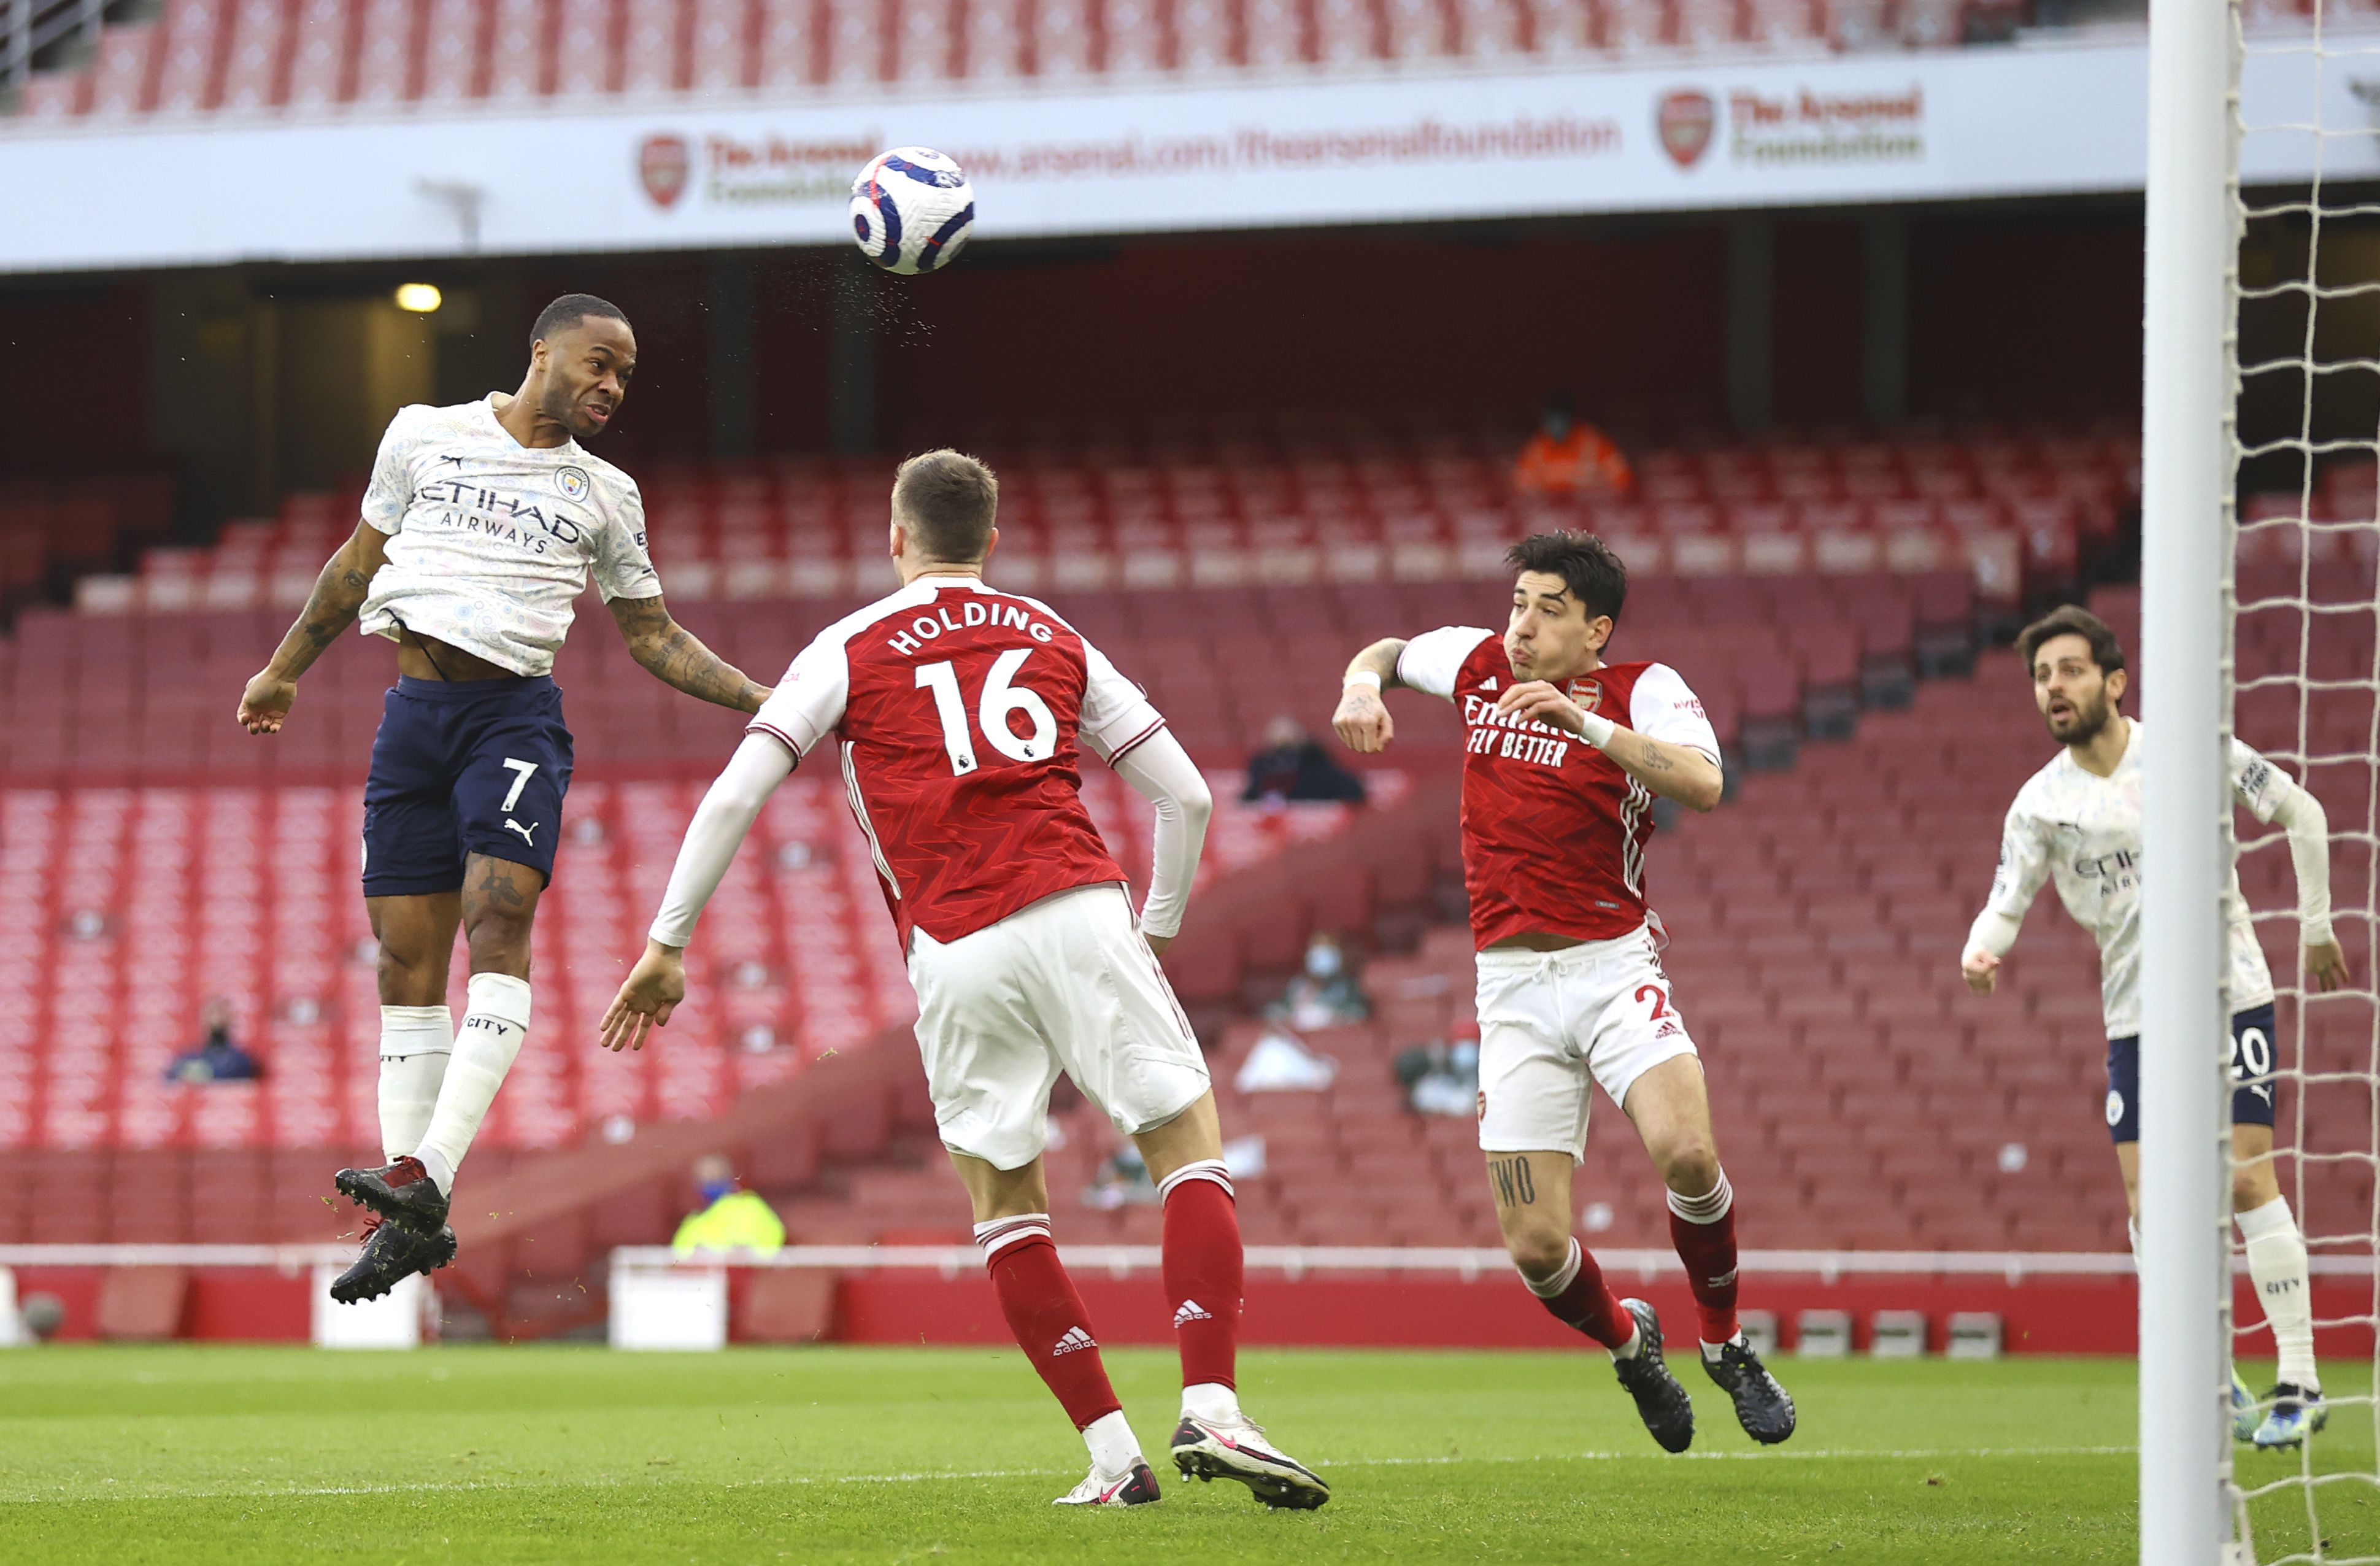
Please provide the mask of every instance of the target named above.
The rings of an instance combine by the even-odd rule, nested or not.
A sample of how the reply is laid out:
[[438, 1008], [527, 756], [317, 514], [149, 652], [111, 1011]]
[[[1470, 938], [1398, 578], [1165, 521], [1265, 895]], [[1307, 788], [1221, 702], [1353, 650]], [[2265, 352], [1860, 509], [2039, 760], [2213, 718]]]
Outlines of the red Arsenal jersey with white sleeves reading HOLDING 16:
[[900, 928], [957, 940], [1052, 892], [1123, 881], [1083, 809], [1078, 735], [1114, 762], [1164, 719], [1050, 612], [921, 576], [819, 633], [752, 719], [800, 762], [833, 735]]

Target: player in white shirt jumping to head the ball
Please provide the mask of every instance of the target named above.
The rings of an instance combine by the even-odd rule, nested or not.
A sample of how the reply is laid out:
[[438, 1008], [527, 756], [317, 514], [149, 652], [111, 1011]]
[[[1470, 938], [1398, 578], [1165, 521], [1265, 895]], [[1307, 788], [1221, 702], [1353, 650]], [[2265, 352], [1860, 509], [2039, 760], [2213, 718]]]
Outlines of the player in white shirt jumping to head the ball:
[[[664, 683], [738, 712], [769, 695], [669, 616], [635, 481], [581, 445], [633, 374], [619, 307], [571, 293], [538, 317], [519, 393], [400, 409], [355, 535], [240, 695], [240, 726], [278, 733], [298, 678], [357, 616], [397, 643], [364, 783], [388, 1164], [336, 1176], [371, 1209], [362, 1257], [331, 1288], [343, 1302], [455, 1259], [455, 1171], [528, 1035], [528, 931], [571, 783], [550, 671], [588, 576]], [[457, 926], [471, 952], [459, 1033], [445, 1007]]]

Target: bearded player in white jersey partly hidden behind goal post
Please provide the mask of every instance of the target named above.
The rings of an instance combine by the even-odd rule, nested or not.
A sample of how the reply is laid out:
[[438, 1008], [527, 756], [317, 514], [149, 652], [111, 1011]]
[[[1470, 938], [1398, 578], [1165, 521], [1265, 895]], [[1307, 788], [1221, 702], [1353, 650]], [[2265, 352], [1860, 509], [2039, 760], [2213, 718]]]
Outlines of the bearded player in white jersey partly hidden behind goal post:
[[[2042, 881], [2099, 940], [2099, 1004], [2106, 1014], [2106, 1128], [2116, 1138], [2123, 1199], [2140, 1245], [2140, 719], [2118, 707], [2130, 681], [2106, 624], [2073, 605], [2016, 638], [2033, 678], [2033, 702], [2063, 750], [2016, 790], [1999, 840], [1992, 895], [1966, 938], [1961, 971], [1978, 995], [1999, 983], [1999, 959], [2016, 945]], [[2240, 740], [2230, 743], [2232, 797], [2259, 821], [2290, 833], [2297, 921], [2306, 976], [2318, 990], [2347, 983], [2347, 952], [2330, 931], [2330, 821], [2320, 800]], [[2313, 1366], [2313, 1302], [2306, 1240], [2273, 1173], [2273, 971], [2256, 945], [2240, 876], [2225, 897], [2232, 1004], [2232, 1221], [2247, 1245], [2249, 1278], [2263, 1302], [2278, 1385], [2266, 1414], [2232, 1373], [2232, 1428], [2259, 1447], [2297, 1447], [2320, 1430], [2323, 1383]]]

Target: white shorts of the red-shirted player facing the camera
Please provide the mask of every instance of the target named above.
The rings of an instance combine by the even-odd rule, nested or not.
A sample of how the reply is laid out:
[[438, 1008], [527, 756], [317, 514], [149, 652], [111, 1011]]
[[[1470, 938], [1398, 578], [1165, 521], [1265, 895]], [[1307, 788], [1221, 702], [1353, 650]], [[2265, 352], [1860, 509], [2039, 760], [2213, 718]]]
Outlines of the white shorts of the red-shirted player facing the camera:
[[1595, 1083], [1626, 1107], [1640, 1076], [1695, 1054], [1652, 928], [1559, 952], [1480, 952], [1478, 976], [1485, 1152], [1585, 1157]]

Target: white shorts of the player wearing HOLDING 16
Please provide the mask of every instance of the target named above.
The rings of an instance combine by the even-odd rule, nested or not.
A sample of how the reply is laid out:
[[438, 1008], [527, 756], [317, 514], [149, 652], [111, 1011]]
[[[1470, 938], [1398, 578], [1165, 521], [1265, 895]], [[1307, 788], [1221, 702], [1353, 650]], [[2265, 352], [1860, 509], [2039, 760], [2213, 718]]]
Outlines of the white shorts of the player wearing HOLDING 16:
[[909, 935], [916, 1047], [942, 1145], [995, 1169], [1042, 1154], [1064, 1071], [1116, 1130], [1207, 1092], [1207, 1057], [1119, 885], [1085, 885], [973, 935]]

